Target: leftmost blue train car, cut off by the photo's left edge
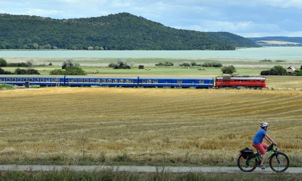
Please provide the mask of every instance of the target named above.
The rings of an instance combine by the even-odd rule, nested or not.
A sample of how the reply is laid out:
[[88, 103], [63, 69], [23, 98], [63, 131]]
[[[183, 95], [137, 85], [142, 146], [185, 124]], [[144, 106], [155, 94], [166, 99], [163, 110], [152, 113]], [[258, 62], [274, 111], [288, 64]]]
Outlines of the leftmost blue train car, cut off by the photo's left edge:
[[25, 82], [29, 82], [29, 85], [53, 85], [59, 86], [64, 83], [63, 75], [0, 75], [0, 83], [13, 84], [13, 85], [25, 85]]

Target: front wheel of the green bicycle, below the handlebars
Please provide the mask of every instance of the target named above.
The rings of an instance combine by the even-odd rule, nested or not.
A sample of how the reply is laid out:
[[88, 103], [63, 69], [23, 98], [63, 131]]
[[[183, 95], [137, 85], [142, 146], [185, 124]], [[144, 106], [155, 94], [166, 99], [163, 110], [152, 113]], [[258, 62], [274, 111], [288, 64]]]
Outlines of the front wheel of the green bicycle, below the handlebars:
[[275, 172], [284, 172], [288, 168], [288, 165], [288, 156], [281, 152], [274, 153], [269, 159], [269, 166], [271, 167], [271, 170], [274, 170]]

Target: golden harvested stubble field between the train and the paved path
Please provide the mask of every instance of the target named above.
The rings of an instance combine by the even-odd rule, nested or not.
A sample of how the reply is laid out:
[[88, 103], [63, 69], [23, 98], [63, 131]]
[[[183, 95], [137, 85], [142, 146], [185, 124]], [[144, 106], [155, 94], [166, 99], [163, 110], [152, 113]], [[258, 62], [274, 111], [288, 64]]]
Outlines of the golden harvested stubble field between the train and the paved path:
[[259, 123], [302, 166], [302, 92], [74, 88], [0, 92], [1, 164], [235, 165]]

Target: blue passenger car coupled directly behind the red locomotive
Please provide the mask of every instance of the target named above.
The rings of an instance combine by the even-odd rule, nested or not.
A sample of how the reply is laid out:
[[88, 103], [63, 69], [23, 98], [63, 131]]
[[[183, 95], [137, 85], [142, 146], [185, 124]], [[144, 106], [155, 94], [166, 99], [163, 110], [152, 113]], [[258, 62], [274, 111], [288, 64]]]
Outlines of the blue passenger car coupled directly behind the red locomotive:
[[139, 76], [138, 86], [208, 88], [214, 86], [214, 79], [213, 77]]

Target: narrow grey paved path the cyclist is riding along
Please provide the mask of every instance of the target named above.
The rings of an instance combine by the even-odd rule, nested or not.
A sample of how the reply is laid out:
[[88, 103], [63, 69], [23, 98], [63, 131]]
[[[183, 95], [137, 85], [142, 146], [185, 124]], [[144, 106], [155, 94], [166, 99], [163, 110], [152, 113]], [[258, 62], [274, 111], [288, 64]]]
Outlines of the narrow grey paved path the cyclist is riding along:
[[[0, 165], [0, 170], [62, 170], [64, 168], [72, 170], [99, 170], [99, 169], [113, 169], [114, 171], [139, 171], [139, 172], [242, 172], [238, 167], [169, 167], [169, 166], [61, 166], [61, 165]], [[271, 168], [262, 170], [256, 168], [253, 173], [275, 173]], [[287, 173], [302, 173], [302, 167], [291, 167], [285, 172]]]

